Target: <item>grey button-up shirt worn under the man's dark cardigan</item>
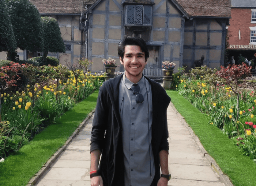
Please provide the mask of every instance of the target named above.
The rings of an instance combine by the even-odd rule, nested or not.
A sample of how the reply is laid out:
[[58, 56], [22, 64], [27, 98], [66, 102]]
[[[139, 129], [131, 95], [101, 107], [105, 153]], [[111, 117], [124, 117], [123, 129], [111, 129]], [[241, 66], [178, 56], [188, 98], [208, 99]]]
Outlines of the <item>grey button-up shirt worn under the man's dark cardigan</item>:
[[152, 92], [150, 83], [144, 76], [137, 84], [139, 84], [140, 93], [144, 97], [143, 103], [136, 103], [135, 99], [138, 93], [131, 90], [133, 83], [125, 75], [119, 85], [125, 186], [150, 186], [155, 175], [151, 144]]

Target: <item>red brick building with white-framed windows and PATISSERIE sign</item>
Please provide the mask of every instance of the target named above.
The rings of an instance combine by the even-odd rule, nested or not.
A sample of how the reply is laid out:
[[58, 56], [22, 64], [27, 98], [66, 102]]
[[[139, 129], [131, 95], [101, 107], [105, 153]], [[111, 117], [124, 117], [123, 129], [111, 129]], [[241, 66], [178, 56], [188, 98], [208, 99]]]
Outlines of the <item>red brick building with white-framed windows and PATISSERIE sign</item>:
[[231, 0], [229, 24], [229, 59], [234, 56], [237, 61], [241, 54], [251, 60], [256, 52], [256, 1]]

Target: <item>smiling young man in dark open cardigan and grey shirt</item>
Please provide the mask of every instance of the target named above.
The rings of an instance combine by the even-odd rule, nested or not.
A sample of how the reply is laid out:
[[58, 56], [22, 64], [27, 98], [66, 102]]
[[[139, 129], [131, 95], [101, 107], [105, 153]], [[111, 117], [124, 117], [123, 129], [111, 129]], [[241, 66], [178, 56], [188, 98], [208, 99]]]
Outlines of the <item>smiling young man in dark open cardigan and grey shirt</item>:
[[143, 39], [125, 36], [118, 56], [125, 73], [99, 89], [91, 131], [91, 186], [167, 186], [170, 98], [159, 83], [143, 76], [149, 57]]

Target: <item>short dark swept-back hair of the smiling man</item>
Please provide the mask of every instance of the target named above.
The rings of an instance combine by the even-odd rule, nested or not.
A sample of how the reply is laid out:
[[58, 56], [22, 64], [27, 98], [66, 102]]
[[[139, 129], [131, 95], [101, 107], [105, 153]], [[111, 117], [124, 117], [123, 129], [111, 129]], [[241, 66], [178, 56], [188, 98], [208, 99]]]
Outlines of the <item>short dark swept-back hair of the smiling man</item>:
[[140, 37], [131, 37], [131, 36], [124, 36], [124, 39], [119, 42], [117, 50], [118, 50], [118, 56], [124, 59], [124, 48], [126, 45], [136, 45], [139, 46], [142, 52], [145, 54], [145, 59], [147, 61], [149, 57], [149, 52], [147, 49], [146, 42], [141, 39]]

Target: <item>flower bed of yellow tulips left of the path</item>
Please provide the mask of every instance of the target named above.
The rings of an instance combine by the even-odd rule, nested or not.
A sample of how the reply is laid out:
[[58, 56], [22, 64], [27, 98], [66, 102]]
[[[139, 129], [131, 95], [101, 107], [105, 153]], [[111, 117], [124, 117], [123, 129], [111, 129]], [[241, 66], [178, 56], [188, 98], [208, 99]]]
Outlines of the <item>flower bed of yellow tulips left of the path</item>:
[[[104, 81], [102, 75], [83, 73], [79, 68], [69, 71], [61, 65], [20, 66], [15, 73], [6, 67], [1, 70], [1, 77], [5, 79], [1, 78], [0, 84], [7, 88], [0, 89], [0, 159], [26, 145]], [[12, 86], [20, 85], [15, 92], [12, 92], [11, 80]]]

